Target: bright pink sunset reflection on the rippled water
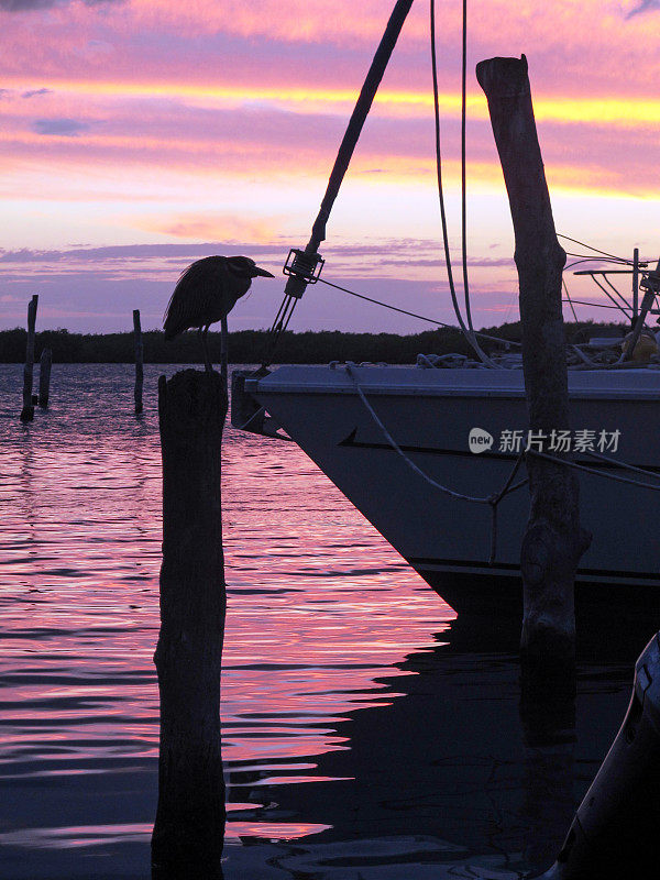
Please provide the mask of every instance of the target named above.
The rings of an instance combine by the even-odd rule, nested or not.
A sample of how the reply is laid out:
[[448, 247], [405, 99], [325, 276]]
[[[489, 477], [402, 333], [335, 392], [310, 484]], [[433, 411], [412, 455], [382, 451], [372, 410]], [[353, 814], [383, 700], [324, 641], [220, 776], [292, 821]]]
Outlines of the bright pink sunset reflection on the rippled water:
[[[13, 413], [0, 425], [0, 765], [13, 778], [155, 772], [161, 371], [146, 372], [141, 421], [130, 411], [130, 371], [63, 366], [51, 413], [28, 429]], [[0, 414], [8, 399], [0, 389]], [[334, 725], [396, 698], [380, 698], [383, 679], [429, 649], [453, 612], [293, 443], [228, 427], [223, 508], [230, 778], [318, 780], [315, 756], [350, 748]], [[230, 799], [244, 794], [232, 781]], [[240, 834], [318, 829], [267, 824], [242, 823]], [[89, 843], [86, 827], [79, 839]]]

